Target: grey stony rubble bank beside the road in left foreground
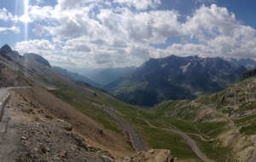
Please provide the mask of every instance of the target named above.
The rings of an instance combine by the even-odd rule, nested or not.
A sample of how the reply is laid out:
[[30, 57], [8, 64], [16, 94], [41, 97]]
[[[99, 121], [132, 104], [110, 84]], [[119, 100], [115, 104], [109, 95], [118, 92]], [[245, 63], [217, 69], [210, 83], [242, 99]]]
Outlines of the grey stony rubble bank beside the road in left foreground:
[[12, 90], [1, 132], [1, 161], [113, 161], [89, 147], [73, 126]]

